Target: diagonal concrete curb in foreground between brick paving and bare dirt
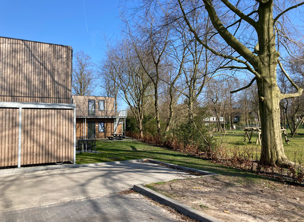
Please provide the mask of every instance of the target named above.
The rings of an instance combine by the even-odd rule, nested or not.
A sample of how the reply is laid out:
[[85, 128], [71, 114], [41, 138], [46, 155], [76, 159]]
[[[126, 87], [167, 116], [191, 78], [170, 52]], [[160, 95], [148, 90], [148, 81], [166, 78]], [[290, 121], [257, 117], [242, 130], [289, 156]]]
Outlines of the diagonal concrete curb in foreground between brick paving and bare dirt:
[[148, 189], [146, 187], [143, 187], [141, 184], [134, 185], [133, 190], [136, 191], [137, 193], [140, 193], [144, 196], [147, 196], [161, 204], [173, 207], [176, 209], [178, 212], [181, 214], [188, 216], [190, 218], [196, 219], [198, 221], [203, 221], [203, 222], [222, 222], [222, 220], [216, 219], [212, 216], [209, 216], [201, 211], [195, 210], [183, 203], [180, 203], [176, 200], [173, 200], [169, 197], [166, 197], [154, 190]]

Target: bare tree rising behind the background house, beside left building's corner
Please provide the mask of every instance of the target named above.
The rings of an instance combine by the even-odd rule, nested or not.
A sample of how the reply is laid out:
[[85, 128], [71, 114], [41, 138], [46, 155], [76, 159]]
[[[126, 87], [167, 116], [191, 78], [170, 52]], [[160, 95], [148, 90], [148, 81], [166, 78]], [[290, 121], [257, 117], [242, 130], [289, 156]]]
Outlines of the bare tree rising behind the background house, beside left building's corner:
[[91, 57], [80, 51], [74, 54], [73, 63], [73, 93], [78, 96], [88, 96], [94, 90], [94, 64]]

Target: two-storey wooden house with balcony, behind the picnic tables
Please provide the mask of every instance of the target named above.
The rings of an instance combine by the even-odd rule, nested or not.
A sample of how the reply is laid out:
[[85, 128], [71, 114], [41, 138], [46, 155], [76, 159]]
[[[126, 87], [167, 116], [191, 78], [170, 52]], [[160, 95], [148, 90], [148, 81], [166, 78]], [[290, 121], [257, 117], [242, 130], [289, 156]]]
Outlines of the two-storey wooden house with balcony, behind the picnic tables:
[[127, 111], [115, 110], [113, 97], [72, 96], [76, 105], [76, 137], [102, 139], [125, 135]]

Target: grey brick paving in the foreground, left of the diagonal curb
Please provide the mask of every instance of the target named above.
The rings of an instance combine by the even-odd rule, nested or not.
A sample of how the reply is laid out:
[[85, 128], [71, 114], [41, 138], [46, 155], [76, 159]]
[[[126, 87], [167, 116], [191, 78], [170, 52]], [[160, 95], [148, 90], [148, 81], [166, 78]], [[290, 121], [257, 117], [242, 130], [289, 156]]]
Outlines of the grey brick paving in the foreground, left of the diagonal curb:
[[107, 195], [0, 213], [0, 221], [181, 221], [139, 194]]

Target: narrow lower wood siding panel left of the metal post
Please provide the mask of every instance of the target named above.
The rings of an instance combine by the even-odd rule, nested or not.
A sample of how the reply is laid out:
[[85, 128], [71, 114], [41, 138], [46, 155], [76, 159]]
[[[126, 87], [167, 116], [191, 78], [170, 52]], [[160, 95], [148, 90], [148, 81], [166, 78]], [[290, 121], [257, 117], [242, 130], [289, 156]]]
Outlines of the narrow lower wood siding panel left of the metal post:
[[18, 165], [19, 109], [0, 109], [0, 166]]

